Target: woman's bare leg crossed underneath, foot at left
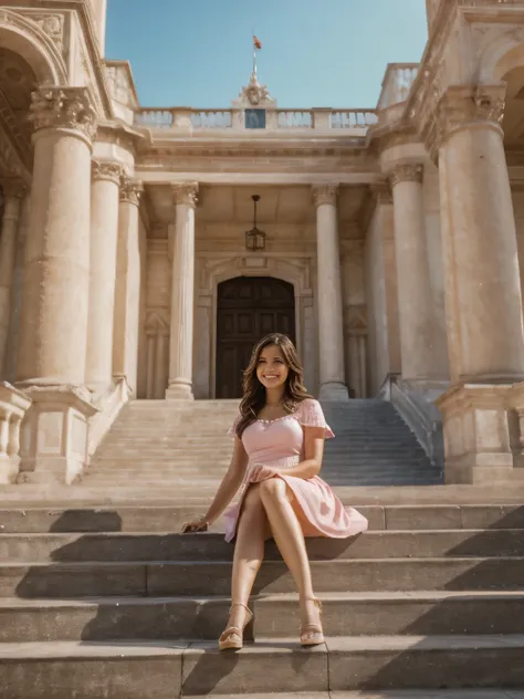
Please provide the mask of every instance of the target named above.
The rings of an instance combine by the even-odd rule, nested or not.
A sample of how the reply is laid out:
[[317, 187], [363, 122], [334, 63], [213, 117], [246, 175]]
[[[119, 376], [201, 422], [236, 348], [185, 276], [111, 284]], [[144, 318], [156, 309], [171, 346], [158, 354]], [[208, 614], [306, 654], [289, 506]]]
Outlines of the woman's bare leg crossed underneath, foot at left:
[[[245, 605], [251, 595], [256, 573], [264, 557], [264, 541], [269, 534], [268, 515], [260, 497], [260, 486], [251, 486], [242, 503], [237, 528], [233, 572], [231, 576], [232, 605]], [[228, 626], [243, 627], [245, 609], [233, 606]]]

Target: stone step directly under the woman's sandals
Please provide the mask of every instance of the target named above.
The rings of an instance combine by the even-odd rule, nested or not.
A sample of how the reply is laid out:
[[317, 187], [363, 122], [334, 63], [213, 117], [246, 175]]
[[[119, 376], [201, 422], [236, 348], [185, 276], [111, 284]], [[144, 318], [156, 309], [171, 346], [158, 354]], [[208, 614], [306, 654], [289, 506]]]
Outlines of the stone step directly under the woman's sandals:
[[[186, 695], [344, 691], [443, 686], [524, 686], [524, 636], [326, 638], [248, 644], [222, 655], [214, 643], [2, 644], [6, 699], [172, 699]], [[78, 696], [78, 695], [77, 695]]]

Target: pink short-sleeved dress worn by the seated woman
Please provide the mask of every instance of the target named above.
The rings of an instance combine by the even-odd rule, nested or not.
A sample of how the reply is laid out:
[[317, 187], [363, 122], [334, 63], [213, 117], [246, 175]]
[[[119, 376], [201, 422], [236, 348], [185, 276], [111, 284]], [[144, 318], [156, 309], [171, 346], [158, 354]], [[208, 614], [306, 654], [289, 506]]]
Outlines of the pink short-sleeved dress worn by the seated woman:
[[[234, 437], [240, 416], [229, 430]], [[321, 404], [307, 398], [291, 415], [275, 420], [256, 420], [242, 435], [242, 444], [249, 457], [241, 495], [237, 504], [226, 513], [226, 541], [234, 539], [242, 499], [250, 482], [250, 469], [264, 465], [272, 469], [292, 469], [304, 460], [303, 427], [324, 428], [326, 439], [335, 435], [327, 425]], [[345, 508], [329, 486], [314, 476], [308, 480], [293, 476], [280, 476], [293, 491], [293, 508], [305, 536], [345, 539], [367, 530], [365, 517], [353, 508]]]

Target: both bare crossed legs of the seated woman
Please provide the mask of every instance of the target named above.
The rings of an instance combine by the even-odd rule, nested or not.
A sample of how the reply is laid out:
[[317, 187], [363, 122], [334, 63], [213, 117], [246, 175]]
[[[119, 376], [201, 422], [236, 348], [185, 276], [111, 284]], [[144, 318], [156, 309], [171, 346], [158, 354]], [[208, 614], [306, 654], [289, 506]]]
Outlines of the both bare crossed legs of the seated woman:
[[242, 628], [244, 624], [243, 605], [248, 606], [264, 556], [264, 541], [271, 535], [298, 588], [302, 625], [319, 625], [304, 534], [291, 503], [292, 497], [280, 478], [251, 486], [245, 494], [237, 530], [229, 626]]

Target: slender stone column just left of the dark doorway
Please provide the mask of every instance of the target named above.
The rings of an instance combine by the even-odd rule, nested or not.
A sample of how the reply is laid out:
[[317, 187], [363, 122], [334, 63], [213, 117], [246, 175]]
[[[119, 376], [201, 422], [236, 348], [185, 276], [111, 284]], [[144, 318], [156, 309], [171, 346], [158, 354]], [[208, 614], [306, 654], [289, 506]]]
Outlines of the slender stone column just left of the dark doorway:
[[174, 186], [176, 223], [172, 241], [171, 331], [168, 399], [192, 399], [195, 302], [195, 208], [198, 182]]

